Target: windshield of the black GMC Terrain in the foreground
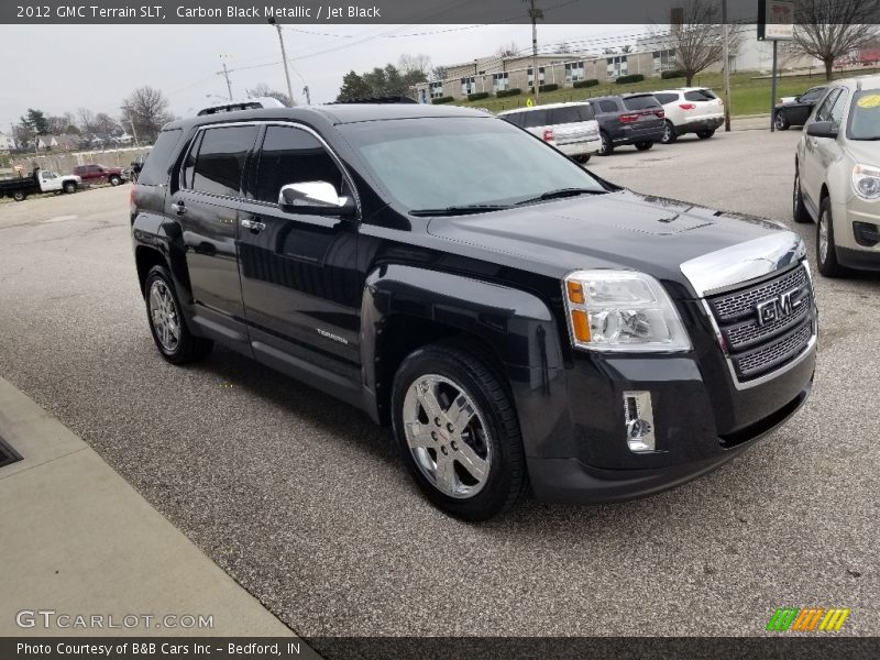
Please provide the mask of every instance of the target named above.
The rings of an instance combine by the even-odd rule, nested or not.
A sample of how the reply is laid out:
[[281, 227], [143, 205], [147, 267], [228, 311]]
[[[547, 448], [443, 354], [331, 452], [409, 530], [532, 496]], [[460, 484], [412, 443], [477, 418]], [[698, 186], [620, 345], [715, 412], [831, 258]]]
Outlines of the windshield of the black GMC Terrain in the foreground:
[[340, 131], [408, 210], [506, 206], [561, 188], [606, 191], [540, 140], [488, 117], [370, 121]]

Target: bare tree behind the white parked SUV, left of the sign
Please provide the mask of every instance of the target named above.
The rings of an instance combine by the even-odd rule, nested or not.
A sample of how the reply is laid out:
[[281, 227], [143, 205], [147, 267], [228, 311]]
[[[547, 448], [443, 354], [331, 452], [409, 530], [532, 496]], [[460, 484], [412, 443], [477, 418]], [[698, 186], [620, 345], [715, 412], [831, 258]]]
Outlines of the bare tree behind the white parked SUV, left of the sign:
[[[673, 51], [676, 69], [684, 73], [686, 85], [694, 76], [724, 58], [724, 40], [719, 6], [711, 0], [688, 0], [678, 14], [680, 23], [670, 25], [670, 33], [658, 41]], [[730, 53], [741, 40], [736, 26], [729, 30]]]

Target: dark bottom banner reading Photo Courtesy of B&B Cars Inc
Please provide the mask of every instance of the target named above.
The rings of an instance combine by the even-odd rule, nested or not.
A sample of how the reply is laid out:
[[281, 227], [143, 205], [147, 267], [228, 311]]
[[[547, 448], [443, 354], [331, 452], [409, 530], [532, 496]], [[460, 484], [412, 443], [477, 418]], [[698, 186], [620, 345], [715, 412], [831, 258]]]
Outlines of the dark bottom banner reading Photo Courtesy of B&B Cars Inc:
[[[784, 635], [784, 636], [783, 636]], [[416, 659], [416, 660], [862, 660], [878, 637], [3, 637], [0, 658], [20, 660]]]

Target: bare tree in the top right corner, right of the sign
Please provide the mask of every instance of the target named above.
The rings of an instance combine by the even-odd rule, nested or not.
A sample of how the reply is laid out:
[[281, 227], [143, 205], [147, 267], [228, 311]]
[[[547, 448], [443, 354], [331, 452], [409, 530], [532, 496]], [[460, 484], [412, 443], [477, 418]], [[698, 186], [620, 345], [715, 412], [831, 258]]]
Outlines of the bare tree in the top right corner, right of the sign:
[[832, 79], [835, 59], [848, 55], [878, 35], [877, 0], [800, 0], [795, 6], [794, 44], [821, 59], [825, 79]]

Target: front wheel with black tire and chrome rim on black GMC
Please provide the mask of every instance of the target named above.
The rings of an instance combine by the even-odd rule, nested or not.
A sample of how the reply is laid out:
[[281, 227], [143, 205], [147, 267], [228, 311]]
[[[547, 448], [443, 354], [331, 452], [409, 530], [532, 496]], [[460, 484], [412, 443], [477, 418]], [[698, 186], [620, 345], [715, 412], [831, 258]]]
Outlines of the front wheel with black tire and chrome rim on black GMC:
[[466, 348], [431, 344], [400, 364], [394, 435], [422, 494], [444, 513], [487, 520], [526, 485], [519, 422], [494, 370]]

